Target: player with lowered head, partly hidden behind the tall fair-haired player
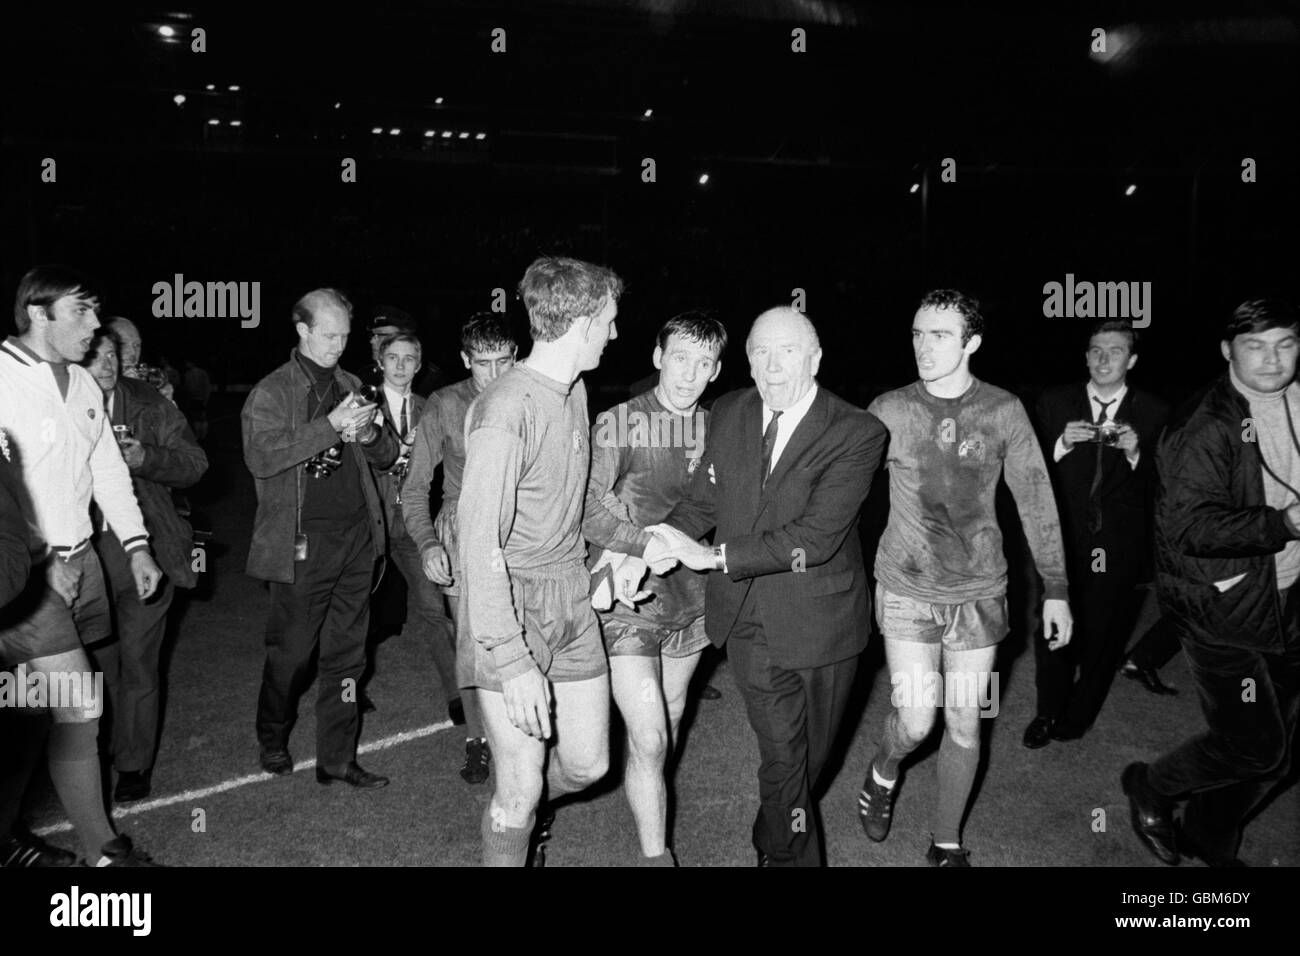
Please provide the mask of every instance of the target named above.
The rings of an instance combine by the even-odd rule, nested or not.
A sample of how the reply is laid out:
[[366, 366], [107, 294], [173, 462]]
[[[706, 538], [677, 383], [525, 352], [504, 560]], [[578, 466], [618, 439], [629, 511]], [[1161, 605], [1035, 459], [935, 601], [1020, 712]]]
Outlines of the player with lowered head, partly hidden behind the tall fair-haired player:
[[[430, 407], [420, 416], [411, 446], [411, 466], [402, 486], [402, 518], [411, 540], [420, 554], [422, 576], [437, 584], [451, 605], [451, 619], [456, 623], [456, 687], [469, 688], [459, 695], [460, 719], [465, 726], [465, 762], [460, 778], [465, 783], [488, 779], [491, 748], [484, 730], [478, 709], [478, 695], [473, 691], [473, 648], [467, 645], [468, 633], [462, 627], [462, 589], [456, 554], [456, 503], [460, 481], [465, 471], [465, 415], [469, 406], [491, 382], [515, 364], [519, 346], [510, 330], [510, 323], [495, 312], [476, 312], [460, 326], [460, 360], [469, 377], [429, 397]], [[433, 475], [442, 466], [442, 506], [437, 519], [430, 511], [429, 492]]]

